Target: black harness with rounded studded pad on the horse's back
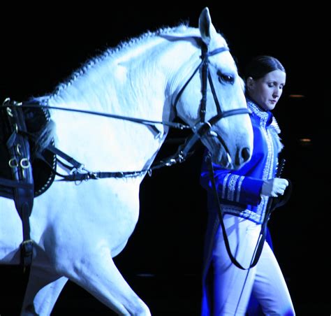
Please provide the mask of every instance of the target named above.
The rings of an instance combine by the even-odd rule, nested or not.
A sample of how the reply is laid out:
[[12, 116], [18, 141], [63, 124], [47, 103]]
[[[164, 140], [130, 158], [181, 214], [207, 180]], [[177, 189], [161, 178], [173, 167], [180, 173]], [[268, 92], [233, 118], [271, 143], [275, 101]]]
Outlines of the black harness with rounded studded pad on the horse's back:
[[0, 196], [13, 199], [22, 220], [23, 241], [20, 248], [24, 267], [31, 264], [33, 256], [29, 217], [34, 197], [45, 192], [55, 176], [42, 164], [43, 160], [47, 160], [55, 168], [56, 157], [45, 151], [45, 157], [40, 159], [40, 154], [36, 154], [37, 140], [34, 138], [38, 129], [43, 129], [49, 121], [49, 116], [41, 108], [22, 108], [20, 103], [10, 99], [0, 106]]

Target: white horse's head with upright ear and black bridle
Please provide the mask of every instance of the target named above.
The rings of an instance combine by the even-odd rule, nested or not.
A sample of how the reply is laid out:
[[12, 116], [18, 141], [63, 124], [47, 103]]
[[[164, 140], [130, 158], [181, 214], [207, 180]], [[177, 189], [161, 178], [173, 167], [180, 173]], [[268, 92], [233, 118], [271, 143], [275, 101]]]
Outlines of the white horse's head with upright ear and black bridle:
[[[251, 159], [253, 150], [243, 82], [225, 39], [212, 24], [208, 8], [200, 14], [199, 30], [203, 61], [180, 96], [177, 94], [177, 115], [193, 126], [211, 152], [212, 161], [237, 169]], [[197, 99], [201, 99], [199, 107]]]

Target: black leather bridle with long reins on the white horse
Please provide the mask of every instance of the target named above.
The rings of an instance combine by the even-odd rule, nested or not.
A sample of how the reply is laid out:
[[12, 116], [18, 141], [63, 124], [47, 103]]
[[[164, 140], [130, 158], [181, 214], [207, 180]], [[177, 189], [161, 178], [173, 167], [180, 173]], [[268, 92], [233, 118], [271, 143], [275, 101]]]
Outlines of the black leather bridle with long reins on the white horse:
[[[208, 52], [207, 45], [205, 43], [201, 44], [201, 56], [200, 58], [202, 61], [200, 64], [196, 67], [195, 71], [193, 71], [191, 77], [189, 80], [187, 80], [182, 88], [179, 90], [179, 93], [177, 94], [175, 98], [175, 102], [173, 103], [173, 108], [176, 109], [177, 103], [179, 102], [180, 97], [182, 96], [182, 93], [184, 92], [184, 89], [189, 85], [189, 82], [191, 82], [192, 78], [196, 75], [196, 73], [201, 69], [201, 81], [202, 81], [202, 99], [200, 100], [200, 121], [195, 124], [193, 127], [186, 125], [186, 124], [181, 124], [181, 123], [176, 123], [176, 122], [166, 122], [166, 121], [153, 121], [153, 120], [144, 120], [144, 119], [139, 119], [135, 117], [126, 117], [122, 115], [112, 115], [108, 113], [99, 113], [95, 111], [90, 111], [90, 110], [78, 110], [78, 109], [72, 109], [72, 108], [62, 108], [62, 107], [56, 107], [56, 106], [47, 106], [43, 105], [41, 103], [17, 103], [15, 101], [8, 101], [6, 99], [3, 102], [3, 106], [6, 107], [11, 107], [11, 106], [21, 106], [22, 108], [28, 107], [28, 108], [43, 108], [45, 110], [49, 109], [55, 109], [55, 110], [67, 110], [67, 111], [72, 111], [72, 112], [79, 112], [79, 113], [86, 113], [90, 115], [99, 115], [103, 117], [111, 117], [119, 120], [127, 120], [131, 122], [136, 122], [139, 124], [145, 124], [145, 125], [152, 125], [154, 126], [155, 124], [162, 124], [168, 127], [176, 128], [176, 129], [191, 129], [193, 131], [192, 136], [189, 136], [189, 138], [186, 139], [185, 143], [181, 146], [179, 146], [177, 152], [175, 155], [172, 155], [166, 159], [163, 159], [150, 168], [145, 168], [140, 171], [117, 171], [117, 172], [104, 172], [104, 171], [99, 171], [99, 172], [91, 172], [88, 171], [87, 169], [84, 168], [84, 164], [81, 164], [80, 162], [76, 161], [73, 159], [73, 157], [70, 157], [66, 155], [66, 153], [61, 152], [58, 148], [55, 148], [53, 145], [48, 145], [47, 150], [50, 150], [50, 152], [54, 153], [54, 155], [57, 155], [58, 157], [61, 157], [65, 161], [67, 161], [71, 166], [68, 166], [65, 164], [63, 161], [59, 161], [63, 166], [66, 166], [70, 170], [70, 173], [68, 175], [62, 175], [60, 173], [57, 173], [56, 170], [52, 166], [53, 172], [57, 175], [59, 175], [62, 179], [65, 181], [81, 181], [81, 180], [89, 180], [89, 179], [98, 179], [98, 178], [135, 178], [140, 175], [145, 175], [148, 173], [149, 175], [152, 174], [152, 171], [161, 168], [163, 166], [172, 166], [172, 164], [176, 164], [177, 162], [183, 162], [186, 160], [186, 157], [191, 155], [191, 148], [193, 148], [193, 145], [195, 145], [200, 138], [202, 138], [207, 132], [209, 132], [214, 124], [219, 122], [224, 117], [229, 117], [232, 115], [240, 115], [240, 114], [249, 114], [249, 110], [247, 108], [237, 108], [234, 110], [226, 110], [222, 111], [221, 110], [221, 105], [219, 103], [219, 99], [217, 98], [216, 95], [216, 90], [212, 81], [212, 76], [210, 76], [209, 73], [209, 57], [214, 56], [216, 54], [219, 54], [221, 52], [226, 52], [229, 49], [227, 47], [223, 48], [216, 48], [215, 50], [212, 50], [212, 52]], [[205, 114], [206, 114], [206, 106], [207, 106], [207, 82], [209, 82], [212, 95], [214, 98], [214, 103], [216, 105], [216, 110], [217, 113], [213, 117], [211, 117], [209, 120], [205, 120]], [[219, 138], [219, 141], [222, 143], [223, 147], [225, 148], [228, 157], [229, 157], [229, 150], [226, 146], [225, 141], [223, 141], [223, 138], [221, 136], [217, 136]], [[47, 163], [47, 161], [45, 161]]]

